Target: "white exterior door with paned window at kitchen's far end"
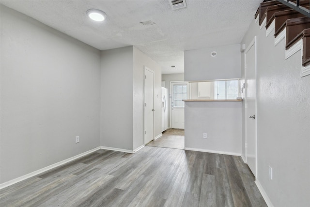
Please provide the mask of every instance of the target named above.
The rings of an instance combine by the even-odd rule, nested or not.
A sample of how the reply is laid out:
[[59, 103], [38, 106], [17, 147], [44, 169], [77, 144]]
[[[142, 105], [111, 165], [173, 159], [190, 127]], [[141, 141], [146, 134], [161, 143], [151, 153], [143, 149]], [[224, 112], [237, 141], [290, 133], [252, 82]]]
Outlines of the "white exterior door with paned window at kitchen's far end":
[[171, 82], [171, 128], [184, 129], [184, 101], [187, 99], [187, 82]]

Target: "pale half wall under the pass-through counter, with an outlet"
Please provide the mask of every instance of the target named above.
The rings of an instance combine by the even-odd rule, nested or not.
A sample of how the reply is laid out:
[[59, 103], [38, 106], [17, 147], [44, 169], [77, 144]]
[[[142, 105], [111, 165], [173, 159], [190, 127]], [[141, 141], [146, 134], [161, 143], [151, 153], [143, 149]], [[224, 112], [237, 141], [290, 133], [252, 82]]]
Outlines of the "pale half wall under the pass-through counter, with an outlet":
[[241, 155], [241, 135], [241, 102], [185, 102], [186, 149]]

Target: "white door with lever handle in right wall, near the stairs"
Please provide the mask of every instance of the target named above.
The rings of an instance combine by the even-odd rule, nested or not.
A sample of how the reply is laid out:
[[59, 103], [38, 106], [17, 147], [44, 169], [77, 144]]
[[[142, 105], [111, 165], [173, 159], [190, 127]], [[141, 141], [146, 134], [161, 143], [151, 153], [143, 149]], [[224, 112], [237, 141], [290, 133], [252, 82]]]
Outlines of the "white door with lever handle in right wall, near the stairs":
[[246, 159], [256, 176], [256, 37], [245, 52], [246, 71]]

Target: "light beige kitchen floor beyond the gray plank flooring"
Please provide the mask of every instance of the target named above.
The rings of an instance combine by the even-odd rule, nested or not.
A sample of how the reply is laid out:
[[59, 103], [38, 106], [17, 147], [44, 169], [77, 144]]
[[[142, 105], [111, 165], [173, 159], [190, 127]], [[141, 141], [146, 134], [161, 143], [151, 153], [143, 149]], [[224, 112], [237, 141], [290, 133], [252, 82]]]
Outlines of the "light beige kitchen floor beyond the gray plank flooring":
[[148, 143], [148, 146], [184, 149], [184, 129], [167, 129], [163, 136]]

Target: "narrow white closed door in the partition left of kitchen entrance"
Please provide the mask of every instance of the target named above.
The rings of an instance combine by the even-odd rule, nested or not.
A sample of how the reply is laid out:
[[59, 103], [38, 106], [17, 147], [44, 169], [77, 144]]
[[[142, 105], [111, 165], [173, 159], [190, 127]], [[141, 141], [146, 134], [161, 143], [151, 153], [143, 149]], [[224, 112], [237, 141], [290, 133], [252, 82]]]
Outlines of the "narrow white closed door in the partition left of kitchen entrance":
[[154, 71], [144, 67], [144, 144], [154, 140]]

